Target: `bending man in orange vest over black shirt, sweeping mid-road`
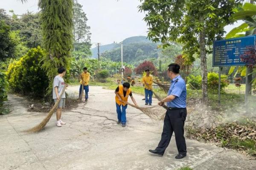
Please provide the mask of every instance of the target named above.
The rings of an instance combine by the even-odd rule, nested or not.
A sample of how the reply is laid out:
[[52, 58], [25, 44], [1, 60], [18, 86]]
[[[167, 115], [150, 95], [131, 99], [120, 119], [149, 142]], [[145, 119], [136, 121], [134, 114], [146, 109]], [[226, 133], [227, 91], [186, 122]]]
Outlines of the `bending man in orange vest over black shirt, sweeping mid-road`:
[[[134, 105], [137, 105], [136, 100], [133, 98], [130, 88], [130, 83], [124, 82], [123, 85], [119, 85], [115, 91], [116, 94], [116, 113], [117, 113], [117, 124], [122, 123], [122, 127], [126, 125], [126, 108], [128, 97], [131, 96], [131, 100]], [[122, 107], [122, 110], [121, 110]]]

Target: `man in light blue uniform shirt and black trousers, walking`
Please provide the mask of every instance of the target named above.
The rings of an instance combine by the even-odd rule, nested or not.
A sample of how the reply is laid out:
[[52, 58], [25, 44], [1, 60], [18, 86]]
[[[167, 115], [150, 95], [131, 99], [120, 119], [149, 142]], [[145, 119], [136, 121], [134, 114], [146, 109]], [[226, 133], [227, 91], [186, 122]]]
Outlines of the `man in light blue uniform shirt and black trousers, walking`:
[[168, 76], [171, 81], [168, 96], [161, 100], [158, 105], [167, 102], [169, 107], [164, 118], [163, 133], [161, 140], [155, 150], [149, 152], [163, 156], [175, 133], [175, 140], [178, 149], [176, 159], [186, 156], [186, 141], [184, 138], [184, 122], [186, 120], [186, 83], [179, 75], [180, 65], [168, 65]]

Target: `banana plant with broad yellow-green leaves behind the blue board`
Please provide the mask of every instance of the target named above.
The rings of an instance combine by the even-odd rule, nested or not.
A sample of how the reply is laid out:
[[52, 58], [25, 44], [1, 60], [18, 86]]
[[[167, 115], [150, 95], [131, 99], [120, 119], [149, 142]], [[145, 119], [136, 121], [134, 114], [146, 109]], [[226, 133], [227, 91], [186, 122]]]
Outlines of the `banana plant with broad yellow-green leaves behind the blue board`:
[[[233, 28], [226, 35], [226, 39], [256, 34], [256, 5], [251, 3], [244, 3], [243, 6], [234, 9], [234, 11], [234, 19], [243, 20], [244, 23], [236, 28]], [[229, 74], [232, 74], [235, 71], [235, 68], [236, 66], [231, 66]], [[253, 73], [255, 72], [256, 69], [254, 68]], [[244, 77], [246, 75], [246, 66], [239, 66], [236, 73], [234, 74], [234, 77], [236, 77], [236, 74], [238, 73]], [[253, 80], [253, 85], [256, 85], [256, 79]]]

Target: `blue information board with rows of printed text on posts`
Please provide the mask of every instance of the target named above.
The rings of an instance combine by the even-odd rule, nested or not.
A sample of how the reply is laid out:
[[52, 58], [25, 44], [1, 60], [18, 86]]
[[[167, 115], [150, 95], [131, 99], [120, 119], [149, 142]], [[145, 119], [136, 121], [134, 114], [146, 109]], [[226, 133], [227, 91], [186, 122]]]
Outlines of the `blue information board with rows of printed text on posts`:
[[213, 42], [212, 66], [246, 65], [240, 56], [255, 49], [255, 36], [246, 36]]

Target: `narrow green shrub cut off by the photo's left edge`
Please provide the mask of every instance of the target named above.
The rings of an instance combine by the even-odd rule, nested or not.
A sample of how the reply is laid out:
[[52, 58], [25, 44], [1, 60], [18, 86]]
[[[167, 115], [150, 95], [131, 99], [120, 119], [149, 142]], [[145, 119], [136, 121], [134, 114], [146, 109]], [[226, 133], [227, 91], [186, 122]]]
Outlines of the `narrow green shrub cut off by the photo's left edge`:
[[7, 100], [8, 82], [6, 75], [0, 72], [0, 114], [3, 109], [3, 102]]

